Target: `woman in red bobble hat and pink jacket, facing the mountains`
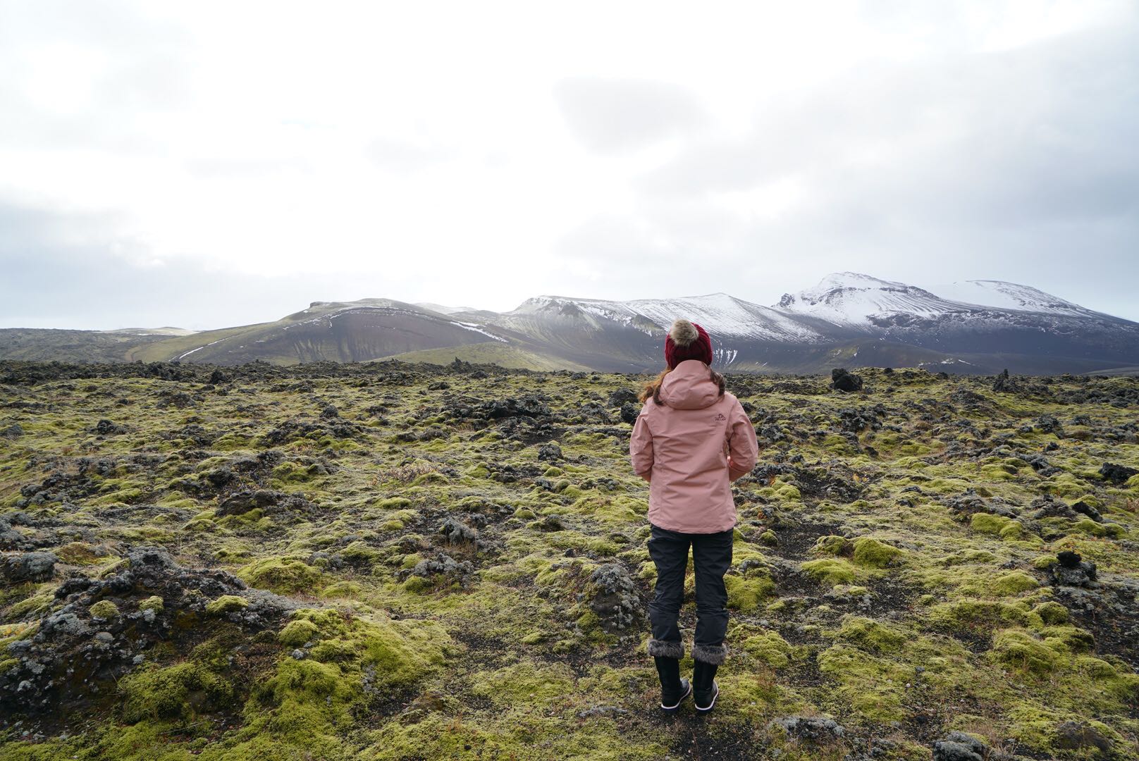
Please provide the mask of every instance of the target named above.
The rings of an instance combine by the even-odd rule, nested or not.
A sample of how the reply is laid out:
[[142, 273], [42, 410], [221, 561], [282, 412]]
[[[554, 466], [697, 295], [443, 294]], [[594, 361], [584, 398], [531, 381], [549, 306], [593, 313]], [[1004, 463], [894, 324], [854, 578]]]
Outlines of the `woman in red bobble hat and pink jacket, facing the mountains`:
[[[731, 482], [755, 467], [755, 428], [723, 376], [713, 370], [712, 341], [699, 325], [673, 322], [664, 341], [667, 369], [646, 384], [629, 453], [649, 482], [649, 557], [656, 594], [649, 603], [648, 653], [661, 677], [661, 707], [673, 712], [693, 694], [697, 711], [711, 711], [720, 687], [714, 677], [728, 648], [728, 592], [736, 506]], [[677, 619], [685, 595], [688, 547], [696, 566], [696, 633], [693, 680], [680, 677], [685, 646]]]

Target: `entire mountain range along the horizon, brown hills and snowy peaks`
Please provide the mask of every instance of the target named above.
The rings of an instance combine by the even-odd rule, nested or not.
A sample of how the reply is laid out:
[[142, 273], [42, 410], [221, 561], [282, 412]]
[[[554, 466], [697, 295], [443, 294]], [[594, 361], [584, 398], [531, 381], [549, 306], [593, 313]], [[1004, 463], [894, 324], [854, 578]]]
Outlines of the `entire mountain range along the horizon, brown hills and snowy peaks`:
[[[679, 317], [712, 336], [731, 371], [818, 373], [838, 366], [957, 373], [1139, 368], [1139, 324], [1030, 286], [966, 280], [933, 289], [858, 272], [763, 306], [724, 293], [606, 301], [535, 296], [509, 312], [390, 298], [313, 302], [279, 320], [182, 335], [0, 329], [0, 359], [178, 360], [235, 365], [453, 358], [535, 369], [654, 371]], [[170, 333], [170, 330], [167, 330]], [[66, 334], [66, 335], [63, 335]]]

